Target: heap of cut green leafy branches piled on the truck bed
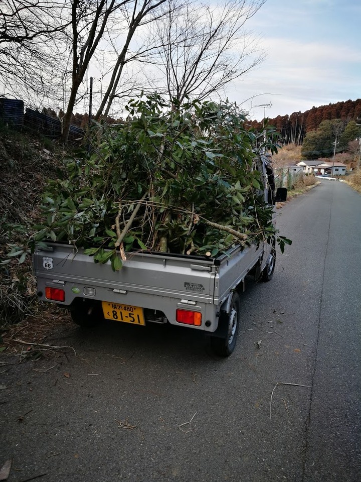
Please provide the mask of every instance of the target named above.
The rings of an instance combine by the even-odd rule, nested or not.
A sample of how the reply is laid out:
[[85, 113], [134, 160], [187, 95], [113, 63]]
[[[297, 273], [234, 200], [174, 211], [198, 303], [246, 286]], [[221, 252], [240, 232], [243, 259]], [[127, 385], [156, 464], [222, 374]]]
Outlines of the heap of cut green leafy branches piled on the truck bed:
[[152, 95], [127, 110], [123, 123], [98, 126], [66, 179], [50, 181], [35, 242], [69, 242], [114, 270], [134, 250], [217, 256], [264, 239], [283, 250], [261, 196], [256, 134], [235, 105]]

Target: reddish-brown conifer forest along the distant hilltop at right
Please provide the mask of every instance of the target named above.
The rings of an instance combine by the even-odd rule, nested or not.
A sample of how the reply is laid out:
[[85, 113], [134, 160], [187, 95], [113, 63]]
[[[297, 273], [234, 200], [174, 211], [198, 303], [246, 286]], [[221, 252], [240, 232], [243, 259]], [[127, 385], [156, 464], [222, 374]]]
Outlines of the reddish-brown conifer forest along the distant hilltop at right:
[[[316, 131], [323, 121], [341, 119], [347, 125], [349, 121], [356, 121], [357, 118], [361, 118], [361, 99], [312, 107], [305, 112], [293, 112], [291, 115], [277, 115], [269, 118], [268, 122], [280, 133], [281, 145], [301, 145], [306, 133]], [[251, 121], [251, 125], [262, 130], [263, 121]]]

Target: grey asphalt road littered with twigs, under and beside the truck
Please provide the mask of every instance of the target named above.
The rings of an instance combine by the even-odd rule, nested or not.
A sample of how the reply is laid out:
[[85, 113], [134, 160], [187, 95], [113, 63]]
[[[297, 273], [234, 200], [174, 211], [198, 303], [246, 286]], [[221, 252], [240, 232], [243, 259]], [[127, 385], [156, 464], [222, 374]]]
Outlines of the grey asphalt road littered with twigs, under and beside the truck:
[[3, 366], [9, 481], [361, 480], [361, 195], [322, 181], [278, 227], [293, 245], [248, 283], [231, 357], [184, 328], [66, 325], [47, 342], [76, 355]]

